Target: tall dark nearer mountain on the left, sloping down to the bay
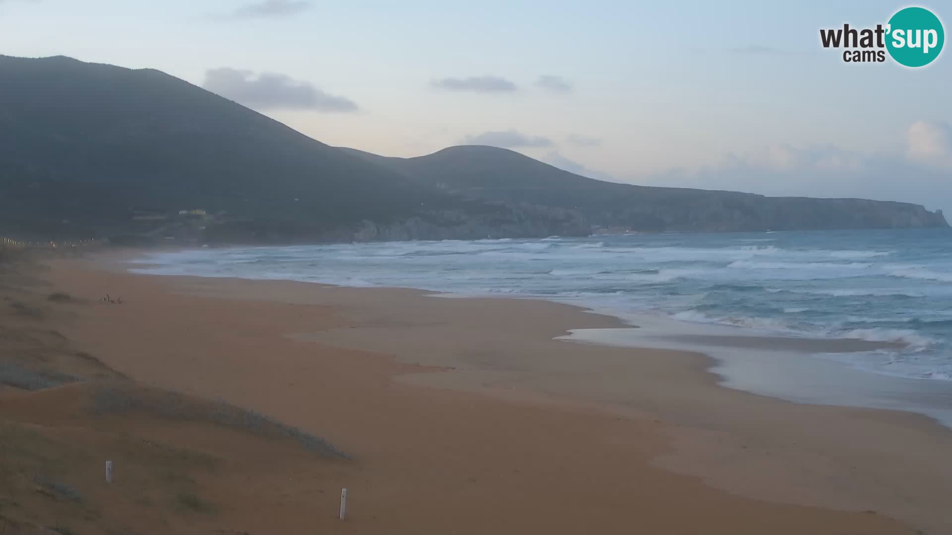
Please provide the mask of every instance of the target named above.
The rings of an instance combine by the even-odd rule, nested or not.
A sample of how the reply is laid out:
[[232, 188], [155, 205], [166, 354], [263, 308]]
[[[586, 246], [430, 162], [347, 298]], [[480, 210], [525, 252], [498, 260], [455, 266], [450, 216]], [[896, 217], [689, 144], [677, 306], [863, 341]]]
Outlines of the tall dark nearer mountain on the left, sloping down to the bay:
[[[158, 70], [0, 56], [0, 80], [0, 237], [587, 232], [565, 210], [467, 200], [409, 180]], [[211, 217], [188, 226], [176, 217], [188, 209]]]

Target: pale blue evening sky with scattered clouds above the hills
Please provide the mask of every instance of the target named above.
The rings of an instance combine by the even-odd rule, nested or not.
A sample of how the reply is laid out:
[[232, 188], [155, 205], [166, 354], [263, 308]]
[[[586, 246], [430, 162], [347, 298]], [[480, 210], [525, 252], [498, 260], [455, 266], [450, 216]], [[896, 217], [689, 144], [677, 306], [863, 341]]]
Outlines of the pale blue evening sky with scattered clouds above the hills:
[[[952, 4], [916, 4], [948, 30]], [[0, 0], [0, 54], [160, 69], [334, 146], [952, 213], [952, 50], [844, 63], [907, 4]], [[2, 80], [0, 80], [2, 83]]]

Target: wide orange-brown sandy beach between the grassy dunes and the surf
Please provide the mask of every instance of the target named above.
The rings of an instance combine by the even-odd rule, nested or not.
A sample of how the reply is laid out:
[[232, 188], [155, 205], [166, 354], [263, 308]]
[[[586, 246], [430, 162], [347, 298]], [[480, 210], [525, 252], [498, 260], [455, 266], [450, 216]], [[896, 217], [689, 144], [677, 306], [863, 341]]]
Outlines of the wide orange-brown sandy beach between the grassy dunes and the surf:
[[[53, 315], [56, 331], [115, 372], [253, 408], [350, 458], [153, 416], [74, 415], [73, 430], [112, 422], [224, 459], [192, 478], [213, 513], [116, 513], [141, 532], [952, 530], [945, 427], [717, 386], [700, 353], [556, 340], [625, 327], [577, 307], [135, 275], [109, 257], [58, 260], [41, 276], [84, 300]], [[99, 301], [107, 293], [123, 304]], [[5, 391], [0, 412], [50, 426], [50, 392], [82, 387]], [[41, 395], [53, 401], [30, 401]], [[125, 491], [152, 483], [137, 485]]]

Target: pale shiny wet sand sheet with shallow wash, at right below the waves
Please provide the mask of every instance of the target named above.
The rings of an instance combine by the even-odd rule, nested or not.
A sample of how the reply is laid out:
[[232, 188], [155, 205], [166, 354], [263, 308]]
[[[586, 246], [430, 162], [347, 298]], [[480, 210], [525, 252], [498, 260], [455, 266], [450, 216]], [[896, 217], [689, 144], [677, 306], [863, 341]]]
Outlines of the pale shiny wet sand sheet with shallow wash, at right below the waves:
[[[851, 353], [893, 349], [891, 342], [811, 339], [768, 331], [628, 314], [643, 328], [572, 329], [560, 340], [612, 347], [704, 352], [717, 384], [811, 405], [901, 410], [952, 428], [952, 382], [865, 371]], [[739, 334], [743, 332], [744, 334]]]

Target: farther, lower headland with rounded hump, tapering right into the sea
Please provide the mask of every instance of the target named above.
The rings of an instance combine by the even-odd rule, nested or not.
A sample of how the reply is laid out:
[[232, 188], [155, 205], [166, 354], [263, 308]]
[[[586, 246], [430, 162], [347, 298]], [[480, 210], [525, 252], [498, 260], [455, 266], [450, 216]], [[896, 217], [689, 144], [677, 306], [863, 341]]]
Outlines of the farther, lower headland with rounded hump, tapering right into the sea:
[[586, 178], [518, 152], [450, 147], [416, 158], [343, 149], [421, 184], [468, 197], [579, 210], [592, 225], [638, 230], [794, 230], [948, 227], [941, 211], [864, 199], [765, 197]]

